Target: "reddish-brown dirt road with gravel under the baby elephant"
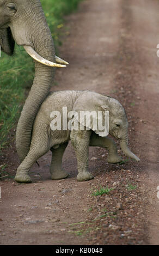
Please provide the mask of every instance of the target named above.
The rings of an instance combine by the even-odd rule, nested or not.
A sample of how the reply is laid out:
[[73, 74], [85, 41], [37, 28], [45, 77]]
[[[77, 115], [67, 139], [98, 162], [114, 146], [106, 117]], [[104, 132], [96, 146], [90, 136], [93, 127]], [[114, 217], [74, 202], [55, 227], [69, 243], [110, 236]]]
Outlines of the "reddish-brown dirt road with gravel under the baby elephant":
[[[70, 65], [57, 70], [52, 90], [89, 89], [118, 99], [129, 119], [130, 148], [141, 161], [108, 164], [105, 149], [90, 148], [89, 171], [95, 179], [77, 182], [69, 144], [63, 161], [68, 179], [50, 179], [48, 153], [40, 167], [33, 166], [33, 183], [17, 184], [18, 160], [11, 145], [1, 160], [10, 174], [0, 181], [1, 244], [159, 243], [158, 10], [157, 0], [86, 0], [66, 18], [70, 34], [63, 31], [60, 57]], [[114, 189], [91, 196], [100, 186]]]

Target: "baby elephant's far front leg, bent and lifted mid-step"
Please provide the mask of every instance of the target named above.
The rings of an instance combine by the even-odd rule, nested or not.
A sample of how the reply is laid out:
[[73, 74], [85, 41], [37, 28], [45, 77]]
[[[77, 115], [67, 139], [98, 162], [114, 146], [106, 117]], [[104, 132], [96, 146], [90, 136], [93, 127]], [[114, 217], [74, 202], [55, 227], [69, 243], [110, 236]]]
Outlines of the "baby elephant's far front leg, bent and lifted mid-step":
[[89, 145], [106, 148], [109, 153], [109, 156], [107, 158], [108, 163], [119, 163], [122, 161], [121, 157], [118, 155], [117, 146], [111, 138], [100, 137], [93, 132], [90, 137]]

